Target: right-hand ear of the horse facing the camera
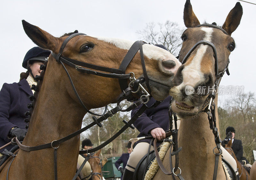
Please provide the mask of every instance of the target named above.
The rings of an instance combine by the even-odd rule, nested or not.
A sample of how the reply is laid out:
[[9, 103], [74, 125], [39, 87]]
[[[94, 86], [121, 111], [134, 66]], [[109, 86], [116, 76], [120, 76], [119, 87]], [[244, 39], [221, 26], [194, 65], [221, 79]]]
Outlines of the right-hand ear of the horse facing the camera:
[[222, 28], [227, 31], [228, 35], [231, 35], [238, 25], [240, 24], [243, 15], [243, 8], [239, 2], [236, 3], [235, 7], [228, 13], [226, 21]]

